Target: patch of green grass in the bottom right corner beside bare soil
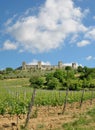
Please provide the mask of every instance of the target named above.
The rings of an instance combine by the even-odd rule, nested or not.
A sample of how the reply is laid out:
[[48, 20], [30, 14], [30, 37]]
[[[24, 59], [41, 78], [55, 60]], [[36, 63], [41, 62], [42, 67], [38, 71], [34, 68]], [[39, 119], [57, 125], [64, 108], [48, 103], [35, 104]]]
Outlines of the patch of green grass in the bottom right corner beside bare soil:
[[95, 108], [80, 115], [77, 120], [62, 125], [65, 130], [95, 130]]

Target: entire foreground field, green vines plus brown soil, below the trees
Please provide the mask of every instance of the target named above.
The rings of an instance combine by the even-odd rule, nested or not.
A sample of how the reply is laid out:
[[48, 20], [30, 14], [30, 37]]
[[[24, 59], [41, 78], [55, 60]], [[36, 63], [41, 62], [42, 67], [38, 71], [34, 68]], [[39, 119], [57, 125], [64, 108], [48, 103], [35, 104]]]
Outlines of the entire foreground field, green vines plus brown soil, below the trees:
[[[28, 84], [28, 79], [0, 80], [1, 130], [22, 129], [33, 93], [32, 88], [25, 87]], [[91, 117], [94, 98], [95, 91], [68, 91], [67, 94], [67, 91], [36, 90], [28, 130], [76, 130], [76, 127], [89, 130], [89, 127], [83, 129], [86, 124], [80, 123], [86, 118], [94, 130], [95, 117]]]

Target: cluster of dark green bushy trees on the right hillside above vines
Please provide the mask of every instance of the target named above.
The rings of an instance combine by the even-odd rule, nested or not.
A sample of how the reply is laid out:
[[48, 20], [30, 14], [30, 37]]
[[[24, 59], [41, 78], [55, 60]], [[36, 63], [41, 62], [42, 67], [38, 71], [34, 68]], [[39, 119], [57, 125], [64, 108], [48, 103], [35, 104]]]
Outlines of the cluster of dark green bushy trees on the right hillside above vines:
[[81, 67], [76, 70], [67, 66], [44, 75], [32, 75], [30, 86], [49, 90], [81, 90], [95, 87], [95, 68]]

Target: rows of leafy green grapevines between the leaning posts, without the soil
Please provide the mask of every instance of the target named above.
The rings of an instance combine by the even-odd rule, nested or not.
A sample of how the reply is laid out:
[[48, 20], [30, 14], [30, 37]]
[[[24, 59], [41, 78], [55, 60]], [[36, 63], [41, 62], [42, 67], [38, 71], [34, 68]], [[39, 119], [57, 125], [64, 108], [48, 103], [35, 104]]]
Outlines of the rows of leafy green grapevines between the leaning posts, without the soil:
[[[26, 87], [0, 87], [0, 114], [25, 114], [33, 89]], [[67, 102], [81, 102], [83, 91], [69, 91]], [[66, 91], [36, 90], [34, 105], [62, 106]], [[83, 100], [95, 98], [95, 91], [84, 91]]]

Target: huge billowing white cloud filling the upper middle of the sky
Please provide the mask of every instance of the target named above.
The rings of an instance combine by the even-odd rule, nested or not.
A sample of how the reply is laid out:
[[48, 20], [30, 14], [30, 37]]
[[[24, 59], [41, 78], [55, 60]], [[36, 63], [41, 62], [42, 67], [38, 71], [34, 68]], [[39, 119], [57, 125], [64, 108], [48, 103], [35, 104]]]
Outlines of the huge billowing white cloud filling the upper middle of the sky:
[[64, 44], [68, 35], [87, 31], [81, 22], [85, 12], [72, 0], [46, 0], [37, 16], [20, 17], [7, 27], [7, 33], [19, 42], [22, 51], [48, 52]]

